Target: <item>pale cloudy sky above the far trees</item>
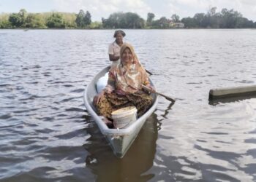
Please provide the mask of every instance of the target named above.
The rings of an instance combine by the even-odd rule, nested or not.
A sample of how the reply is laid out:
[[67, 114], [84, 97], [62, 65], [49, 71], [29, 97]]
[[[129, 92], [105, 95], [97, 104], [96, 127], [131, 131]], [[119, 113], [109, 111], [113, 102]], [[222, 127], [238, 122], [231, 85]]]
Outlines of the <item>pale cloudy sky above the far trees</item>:
[[234, 9], [249, 20], [256, 21], [256, 0], [0, 0], [1, 12], [75, 12], [80, 9], [91, 13], [91, 20], [101, 21], [113, 12], [135, 12], [146, 20], [153, 12], [160, 17], [193, 17], [197, 12], [206, 13], [211, 7]]

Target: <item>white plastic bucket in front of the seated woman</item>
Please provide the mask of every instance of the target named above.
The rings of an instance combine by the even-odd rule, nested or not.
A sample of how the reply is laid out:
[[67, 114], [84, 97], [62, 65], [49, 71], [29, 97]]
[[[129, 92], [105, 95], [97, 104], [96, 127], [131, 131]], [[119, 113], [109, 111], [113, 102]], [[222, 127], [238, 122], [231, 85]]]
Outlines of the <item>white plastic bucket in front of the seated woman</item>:
[[134, 106], [120, 108], [111, 113], [114, 127], [125, 128], [137, 119], [137, 109]]

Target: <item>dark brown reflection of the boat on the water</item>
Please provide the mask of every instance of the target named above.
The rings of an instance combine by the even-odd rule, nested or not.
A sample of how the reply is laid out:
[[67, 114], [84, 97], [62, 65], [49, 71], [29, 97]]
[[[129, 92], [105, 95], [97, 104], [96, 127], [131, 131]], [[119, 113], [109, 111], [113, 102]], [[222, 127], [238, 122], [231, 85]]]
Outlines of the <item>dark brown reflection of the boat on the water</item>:
[[[159, 130], [157, 115], [152, 114], [135, 139], [123, 159], [113, 155], [105, 138], [99, 133], [95, 124], [86, 130], [91, 138], [84, 145], [89, 155], [86, 157], [86, 166], [97, 175], [97, 181], [148, 181], [154, 173], [146, 173], [151, 168], [156, 152], [156, 141]], [[97, 132], [97, 133], [96, 133]]]

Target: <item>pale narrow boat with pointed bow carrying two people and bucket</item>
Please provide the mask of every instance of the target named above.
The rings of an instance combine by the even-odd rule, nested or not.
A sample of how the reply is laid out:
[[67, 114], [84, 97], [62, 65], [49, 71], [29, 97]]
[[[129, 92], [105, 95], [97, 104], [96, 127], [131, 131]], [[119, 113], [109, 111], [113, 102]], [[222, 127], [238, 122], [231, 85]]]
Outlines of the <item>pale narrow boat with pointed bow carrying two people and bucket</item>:
[[[148, 116], [150, 116], [157, 108], [158, 98], [157, 94], [151, 94], [154, 100], [151, 108], [149, 108], [148, 111], [143, 114], [143, 116], [140, 116], [136, 122], [133, 122], [123, 129], [108, 128], [105, 122], [102, 121], [102, 118], [98, 116], [96, 108], [93, 105], [93, 98], [95, 95], [97, 95], [97, 81], [102, 78], [102, 76], [105, 76], [106, 73], [108, 73], [109, 68], [110, 66], [104, 68], [99, 72], [99, 74], [94, 76], [94, 79], [92, 79], [92, 81], [86, 87], [83, 100], [87, 111], [94, 118], [94, 121], [97, 123], [99, 130], [109, 141], [110, 146], [113, 149], [113, 153], [116, 155], [116, 157], [122, 158], [128, 151], [129, 147], [132, 145], [133, 141], [135, 141], [135, 138], [140, 132], [141, 127], [143, 127], [143, 124], [146, 122]], [[154, 86], [152, 82], [151, 84]]]

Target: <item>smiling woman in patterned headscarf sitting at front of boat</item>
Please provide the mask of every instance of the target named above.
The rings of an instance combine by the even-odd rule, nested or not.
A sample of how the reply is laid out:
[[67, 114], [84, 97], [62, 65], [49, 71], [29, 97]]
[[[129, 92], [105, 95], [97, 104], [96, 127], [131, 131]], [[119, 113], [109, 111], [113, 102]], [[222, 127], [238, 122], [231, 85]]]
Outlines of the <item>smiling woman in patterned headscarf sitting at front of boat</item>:
[[111, 66], [108, 84], [102, 92], [94, 97], [99, 115], [111, 119], [111, 113], [119, 108], [135, 106], [138, 117], [150, 108], [153, 98], [142, 90], [142, 85], [151, 88], [146, 70], [138, 61], [132, 45], [124, 43], [120, 50], [121, 58]]

